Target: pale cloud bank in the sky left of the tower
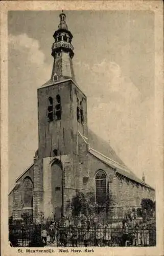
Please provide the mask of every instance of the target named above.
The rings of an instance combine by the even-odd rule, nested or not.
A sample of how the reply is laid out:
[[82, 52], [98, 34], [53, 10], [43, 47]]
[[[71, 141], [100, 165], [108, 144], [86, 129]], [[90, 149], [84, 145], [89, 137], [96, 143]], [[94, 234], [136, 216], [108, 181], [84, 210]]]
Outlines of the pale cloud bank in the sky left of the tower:
[[8, 36], [9, 183], [33, 161], [38, 147], [37, 88], [50, 79], [39, 42], [27, 34]]

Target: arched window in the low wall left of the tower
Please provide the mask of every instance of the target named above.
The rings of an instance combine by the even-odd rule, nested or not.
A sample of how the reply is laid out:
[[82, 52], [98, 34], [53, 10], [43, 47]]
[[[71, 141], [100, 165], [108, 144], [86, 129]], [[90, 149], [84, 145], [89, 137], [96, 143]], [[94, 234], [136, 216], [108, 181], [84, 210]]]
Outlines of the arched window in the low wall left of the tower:
[[23, 181], [23, 204], [24, 207], [33, 207], [33, 183], [27, 177]]

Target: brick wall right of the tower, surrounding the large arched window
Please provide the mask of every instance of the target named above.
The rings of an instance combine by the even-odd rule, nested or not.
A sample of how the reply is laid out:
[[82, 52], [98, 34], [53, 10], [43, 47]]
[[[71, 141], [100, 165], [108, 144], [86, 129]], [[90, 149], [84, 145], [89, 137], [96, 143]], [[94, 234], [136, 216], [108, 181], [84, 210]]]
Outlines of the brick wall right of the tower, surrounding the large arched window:
[[[107, 175], [109, 186], [110, 200], [112, 202], [111, 210], [113, 216], [117, 216], [117, 207], [123, 207], [123, 212], [127, 208], [139, 207], [143, 198], [153, 198], [154, 191], [148, 189], [134, 181], [128, 180], [126, 177], [115, 174], [110, 166], [106, 165], [98, 158], [87, 153], [86, 143], [79, 135], [79, 164], [75, 164], [76, 184], [77, 188], [82, 189], [84, 193], [92, 191], [95, 193], [95, 175], [97, 170], [103, 169]], [[82, 177], [89, 176], [88, 183], [83, 184]]]

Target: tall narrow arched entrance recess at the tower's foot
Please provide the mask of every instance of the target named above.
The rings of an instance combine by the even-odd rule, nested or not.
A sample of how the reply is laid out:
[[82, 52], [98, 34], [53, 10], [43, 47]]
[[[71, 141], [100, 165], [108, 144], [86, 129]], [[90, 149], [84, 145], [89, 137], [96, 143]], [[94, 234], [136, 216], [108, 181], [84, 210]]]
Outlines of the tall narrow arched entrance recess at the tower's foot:
[[60, 219], [62, 216], [62, 165], [60, 162], [54, 162], [51, 168], [53, 216], [57, 220]]

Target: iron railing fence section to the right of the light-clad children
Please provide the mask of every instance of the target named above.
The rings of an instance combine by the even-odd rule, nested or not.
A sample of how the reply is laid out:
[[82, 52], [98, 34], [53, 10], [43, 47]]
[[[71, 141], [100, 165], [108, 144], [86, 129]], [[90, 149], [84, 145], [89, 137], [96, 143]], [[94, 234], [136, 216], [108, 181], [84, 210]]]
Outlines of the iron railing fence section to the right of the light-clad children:
[[60, 228], [57, 246], [155, 246], [155, 230], [120, 228]]

